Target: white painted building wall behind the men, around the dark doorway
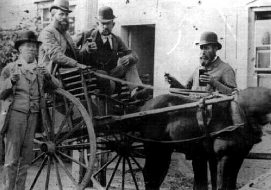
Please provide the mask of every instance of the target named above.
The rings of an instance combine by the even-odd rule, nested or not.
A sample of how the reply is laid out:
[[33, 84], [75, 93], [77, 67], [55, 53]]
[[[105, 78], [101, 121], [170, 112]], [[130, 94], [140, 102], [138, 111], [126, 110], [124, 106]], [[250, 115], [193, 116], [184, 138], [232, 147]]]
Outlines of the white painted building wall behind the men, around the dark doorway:
[[[70, 0], [77, 4], [76, 31], [91, 28], [97, 9], [110, 6], [114, 10], [116, 26], [113, 32], [121, 36], [121, 26], [155, 24], [156, 94], [166, 88], [164, 72], [169, 72], [182, 83], [198, 65], [199, 47], [195, 42], [204, 31], [214, 31], [223, 45], [218, 51], [222, 60], [236, 71], [238, 88], [255, 86], [253, 70], [253, 36], [249, 23], [249, 7], [271, 6], [267, 0]], [[129, 3], [127, 3], [129, 2]], [[199, 2], [201, 2], [199, 4]], [[28, 10], [29, 13], [23, 12]], [[0, 28], [12, 28], [22, 17], [37, 14], [34, 0], [0, 1]], [[198, 29], [198, 30], [196, 30]], [[161, 92], [160, 92], [161, 91]]]

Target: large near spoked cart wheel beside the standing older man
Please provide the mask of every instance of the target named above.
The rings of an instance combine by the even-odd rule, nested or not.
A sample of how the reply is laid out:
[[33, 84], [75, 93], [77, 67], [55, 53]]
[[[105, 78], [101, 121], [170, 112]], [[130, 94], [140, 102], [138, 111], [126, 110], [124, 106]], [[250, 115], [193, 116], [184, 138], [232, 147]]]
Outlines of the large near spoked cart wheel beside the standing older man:
[[[42, 175], [46, 175], [45, 189], [55, 189], [57, 186], [63, 189], [63, 184], [67, 185], [69, 182], [67, 178], [70, 179], [73, 188], [84, 189], [93, 174], [96, 157], [92, 115], [86, 112], [77, 98], [63, 89], [48, 93], [46, 102], [47, 114], [42, 118], [44, 132], [39, 135], [40, 137], [36, 134], [34, 143], [38, 148], [34, 151], [37, 156], [32, 161], [35, 165], [40, 163], [40, 167], [29, 189], [34, 189], [38, 180], [44, 180]], [[89, 152], [87, 163], [81, 159], [85, 150]], [[78, 151], [79, 159], [72, 155], [75, 151]], [[79, 168], [76, 172], [71, 171], [73, 162]], [[52, 166], [54, 170], [51, 170]], [[84, 176], [80, 177], [83, 169]], [[66, 175], [63, 175], [65, 173]], [[55, 178], [57, 181], [53, 181]]]

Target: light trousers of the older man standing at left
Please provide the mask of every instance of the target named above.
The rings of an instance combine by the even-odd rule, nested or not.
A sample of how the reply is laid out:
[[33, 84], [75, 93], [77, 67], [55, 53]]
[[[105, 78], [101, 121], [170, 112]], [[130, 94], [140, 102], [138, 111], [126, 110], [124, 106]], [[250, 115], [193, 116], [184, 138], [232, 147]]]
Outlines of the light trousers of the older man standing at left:
[[12, 110], [5, 136], [4, 189], [24, 190], [27, 169], [34, 158], [33, 140], [39, 113]]

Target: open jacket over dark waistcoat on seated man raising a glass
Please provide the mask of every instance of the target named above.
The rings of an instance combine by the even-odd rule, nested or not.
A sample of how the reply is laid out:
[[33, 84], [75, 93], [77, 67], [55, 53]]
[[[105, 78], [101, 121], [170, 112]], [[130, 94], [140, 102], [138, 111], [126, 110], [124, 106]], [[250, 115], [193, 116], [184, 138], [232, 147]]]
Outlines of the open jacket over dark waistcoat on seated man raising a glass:
[[[91, 54], [89, 54], [85, 49], [82, 49], [83, 45], [86, 43], [87, 38], [92, 38], [94, 41], [96, 41], [97, 34], [99, 33], [98, 29], [92, 29], [86, 32], [83, 32], [82, 34], [78, 34], [75, 37], [75, 44], [78, 48], [81, 47], [80, 55], [82, 58], [82, 64], [89, 65], [86, 62], [89, 62], [91, 60]], [[114, 35], [112, 35], [112, 50], [115, 50], [116, 52], [119, 51], [128, 51], [128, 58], [129, 58], [129, 63], [131, 65], [136, 64], [138, 62], [138, 55], [135, 51], [131, 50], [128, 48], [124, 41]]]

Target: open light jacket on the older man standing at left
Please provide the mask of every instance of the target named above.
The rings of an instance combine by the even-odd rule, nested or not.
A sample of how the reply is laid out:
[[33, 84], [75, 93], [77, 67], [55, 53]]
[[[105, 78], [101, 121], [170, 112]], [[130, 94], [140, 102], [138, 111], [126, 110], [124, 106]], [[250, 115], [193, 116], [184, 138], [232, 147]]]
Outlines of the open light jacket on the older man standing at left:
[[[10, 80], [10, 74], [14, 72], [16, 65], [20, 62], [18, 59], [15, 62], [9, 63], [2, 71], [1, 76], [0, 76], [0, 99], [2, 100], [2, 109], [1, 109], [1, 114], [0, 114], [0, 131], [1, 134], [4, 134], [7, 127], [8, 127], [8, 121], [9, 121], [9, 116], [11, 113], [11, 108], [14, 102], [14, 97], [15, 97], [15, 91], [16, 91], [16, 85], [12, 85], [11, 80]], [[25, 71], [22, 69], [22, 74]], [[26, 75], [25, 75], [26, 76]], [[44, 118], [45, 114], [45, 107], [46, 107], [46, 102], [45, 102], [45, 97], [44, 97], [44, 92], [50, 89], [55, 89], [55, 88], [61, 88], [61, 83], [58, 82], [58, 80], [51, 75], [51, 80], [46, 80], [44, 76], [37, 74], [36, 78], [32, 78], [34, 81], [37, 79], [38, 82], [38, 88], [35, 90], [39, 90], [39, 95], [40, 95], [40, 106], [41, 108], [40, 112], [42, 114], [42, 118]], [[27, 76], [26, 76], [27, 77]], [[30, 78], [28, 78], [30, 79]], [[22, 83], [20, 83], [21, 86], [28, 86], [25, 83], [27, 80], [22, 80]], [[21, 94], [25, 97], [29, 97], [29, 94]], [[24, 98], [21, 100], [18, 99], [16, 101], [25, 101]]]

